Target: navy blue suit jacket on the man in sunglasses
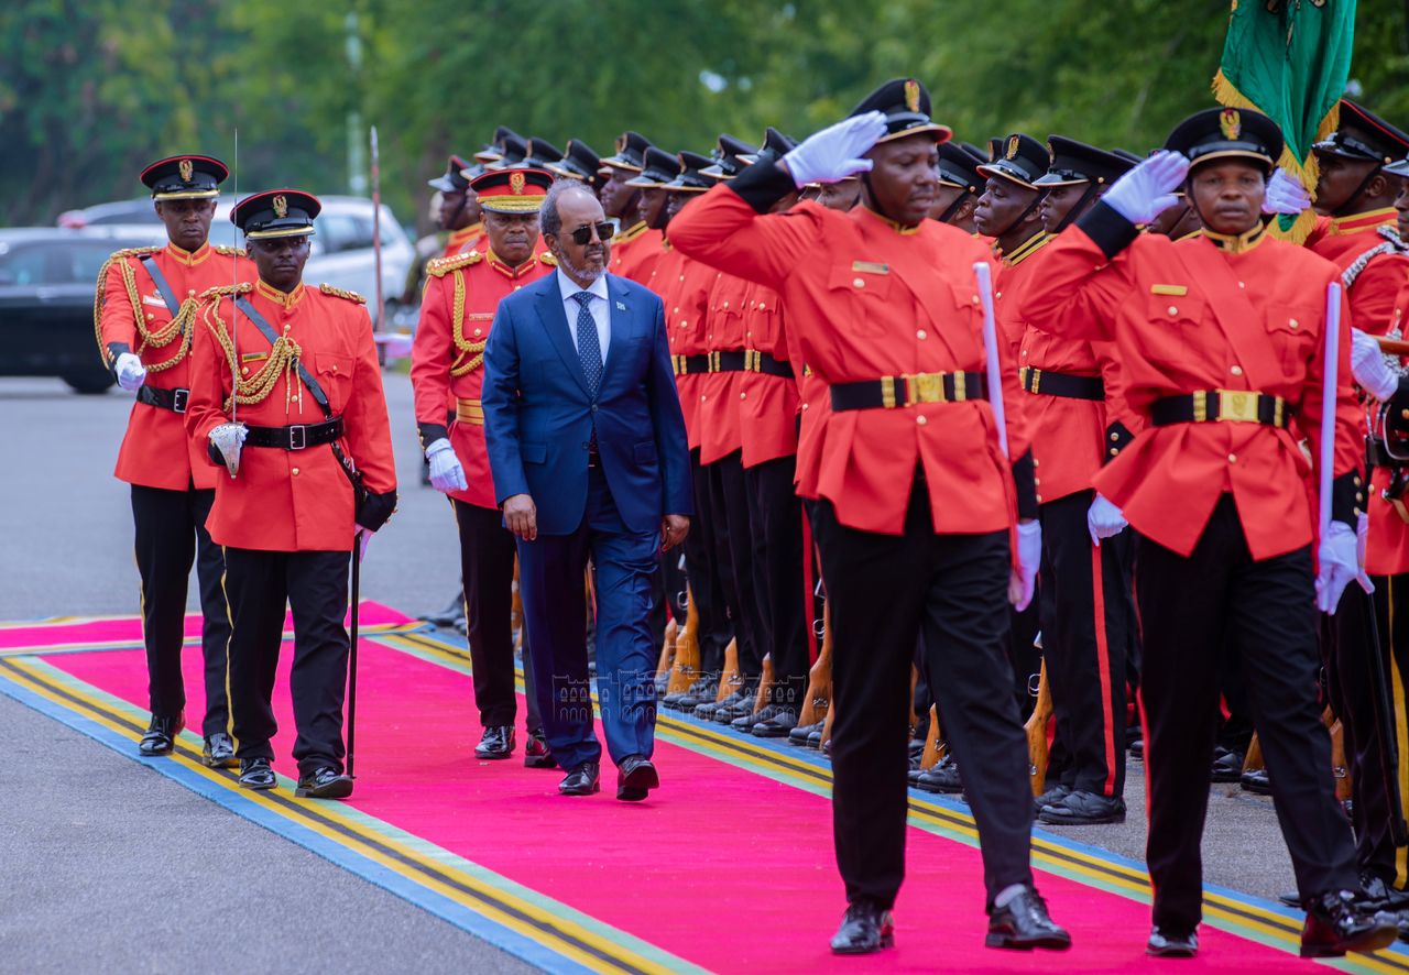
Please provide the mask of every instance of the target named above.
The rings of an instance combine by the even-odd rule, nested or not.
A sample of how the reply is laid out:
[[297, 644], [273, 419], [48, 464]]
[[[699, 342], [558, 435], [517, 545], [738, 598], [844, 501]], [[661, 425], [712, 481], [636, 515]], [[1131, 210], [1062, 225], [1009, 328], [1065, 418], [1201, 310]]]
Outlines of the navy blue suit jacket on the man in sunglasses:
[[566, 535], [582, 523], [593, 420], [602, 472], [630, 531], [657, 531], [665, 514], [695, 513], [661, 299], [607, 275], [607, 310], [596, 397], [588, 395], [557, 273], [503, 299], [489, 330], [482, 397], [495, 499], [531, 496], [542, 534]]

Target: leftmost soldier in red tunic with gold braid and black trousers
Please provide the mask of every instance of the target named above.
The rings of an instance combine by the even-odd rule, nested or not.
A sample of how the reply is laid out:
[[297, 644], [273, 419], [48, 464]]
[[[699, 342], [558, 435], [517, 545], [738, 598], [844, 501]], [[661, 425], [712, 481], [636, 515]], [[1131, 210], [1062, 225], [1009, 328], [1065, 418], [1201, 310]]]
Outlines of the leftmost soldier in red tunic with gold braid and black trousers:
[[192, 559], [200, 583], [201, 654], [206, 662], [206, 765], [234, 765], [225, 704], [230, 617], [220, 588], [224, 557], [206, 531], [216, 472], [186, 438], [190, 344], [197, 296], [220, 283], [249, 280], [242, 251], [211, 247], [210, 221], [228, 170], [199, 155], [154, 162], [139, 179], [166, 225], [165, 247], [118, 251], [97, 276], [94, 330], [103, 361], [118, 385], [137, 392], [114, 476], [132, 486], [134, 555], [142, 580], [142, 642], [152, 721], [138, 751], [165, 755], [186, 723], [180, 672], [186, 585]]

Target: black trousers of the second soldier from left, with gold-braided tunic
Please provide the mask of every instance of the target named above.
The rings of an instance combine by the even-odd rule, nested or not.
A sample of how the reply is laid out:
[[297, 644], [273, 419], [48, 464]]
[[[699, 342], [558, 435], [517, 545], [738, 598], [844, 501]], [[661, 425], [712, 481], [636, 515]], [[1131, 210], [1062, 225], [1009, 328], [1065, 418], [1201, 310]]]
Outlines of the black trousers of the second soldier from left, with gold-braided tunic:
[[230, 599], [230, 716], [235, 755], [273, 758], [273, 683], [285, 606], [293, 611], [293, 758], [299, 775], [342, 771], [342, 700], [348, 681], [349, 552], [266, 552], [225, 548]]

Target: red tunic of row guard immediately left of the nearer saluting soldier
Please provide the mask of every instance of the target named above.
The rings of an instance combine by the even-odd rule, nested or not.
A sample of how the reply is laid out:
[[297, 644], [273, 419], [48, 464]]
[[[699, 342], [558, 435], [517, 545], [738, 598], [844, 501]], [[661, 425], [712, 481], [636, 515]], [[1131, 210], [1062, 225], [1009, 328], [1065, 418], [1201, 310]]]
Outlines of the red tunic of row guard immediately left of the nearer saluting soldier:
[[[750, 283], [744, 309], [744, 344], [752, 352], [765, 352], [778, 362], [789, 361], [788, 330], [778, 292]], [[744, 466], [752, 468], [797, 452], [797, 376], [793, 379], [764, 372], [738, 376], [738, 430], [744, 447]]]

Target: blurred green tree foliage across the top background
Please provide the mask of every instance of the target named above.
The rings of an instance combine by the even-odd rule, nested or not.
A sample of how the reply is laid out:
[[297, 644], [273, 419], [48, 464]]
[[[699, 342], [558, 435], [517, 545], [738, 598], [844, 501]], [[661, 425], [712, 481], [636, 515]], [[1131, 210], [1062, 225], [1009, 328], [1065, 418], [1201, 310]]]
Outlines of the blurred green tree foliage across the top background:
[[[7, 0], [0, 220], [48, 223], [135, 196], [135, 173], [163, 154], [230, 159], [235, 127], [241, 192], [347, 192], [352, 113], [379, 127], [383, 194], [411, 220], [448, 154], [473, 152], [497, 124], [559, 148], [575, 137], [604, 152], [637, 128], [707, 151], [721, 131], [806, 135], [899, 75], [929, 85], [958, 138], [1062, 132], [1143, 152], [1212, 103], [1227, 11], [1227, 0]], [[1357, 27], [1363, 100], [1409, 125], [1402, 0], [1361, 0]]]

